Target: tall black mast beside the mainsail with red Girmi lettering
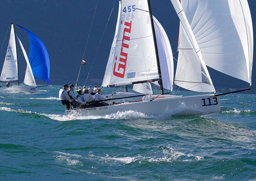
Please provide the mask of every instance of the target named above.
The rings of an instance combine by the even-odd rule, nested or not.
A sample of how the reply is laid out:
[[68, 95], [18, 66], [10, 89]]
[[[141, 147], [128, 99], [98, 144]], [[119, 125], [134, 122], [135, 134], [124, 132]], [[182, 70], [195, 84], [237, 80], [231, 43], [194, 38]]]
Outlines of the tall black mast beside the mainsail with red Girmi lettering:
[[156, 50], [156, 62], [158, 66], [158, 75], [159, 75], [159, 85], [161, 89], [161, 94], [163, 94], [163, 80], [162, 80], [162, 75], [161, 75], [161, 68], [160, 68], [160, 60], [159, 60], [159, 55], [158, 55], [158, 47], [156, 43], [156, 32], [155, 32], [155, 27], [154, 27], [154, 20], [153, 20], [153, 15], [152, 15], [152, 10], [151, 10], [151, 5], [150, 5], [150, 0], [148, 0], [148, 10], [150, 13], [150, 20], [151, 20], [151, 27], [152, 27], [152, 33], [153, 33], [153, 39], [154, 39], [154, 44], [155, 44], [155, 50]]

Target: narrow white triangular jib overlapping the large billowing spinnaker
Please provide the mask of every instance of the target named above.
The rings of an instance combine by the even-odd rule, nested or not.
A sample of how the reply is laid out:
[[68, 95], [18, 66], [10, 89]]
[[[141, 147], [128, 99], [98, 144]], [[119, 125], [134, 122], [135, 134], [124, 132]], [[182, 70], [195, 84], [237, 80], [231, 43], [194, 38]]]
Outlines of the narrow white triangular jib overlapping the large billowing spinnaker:
[[186, 14], [179, 0], [171, 0], [171, 2], [181, 22], [180, 30], [184, 31], [184, 40], [179, 41], [179, 57], [174, 83], [197, 92], [215, 92]]

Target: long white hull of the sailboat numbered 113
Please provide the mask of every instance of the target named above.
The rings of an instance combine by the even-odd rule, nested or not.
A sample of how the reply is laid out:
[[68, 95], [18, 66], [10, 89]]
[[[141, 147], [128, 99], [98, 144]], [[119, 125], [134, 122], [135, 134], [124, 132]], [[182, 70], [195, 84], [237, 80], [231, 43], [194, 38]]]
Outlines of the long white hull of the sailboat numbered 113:
[[216, 113], [221, 110], [219, 96], [214, 94], [196, 96], [169, 96], [159, 95], [154, 100], [141, 102], [121, 103], [104, 107], [92, 107], [87, 109], [66, 110], [66, 115], [79, 114], [89, 115], [109, 115], [118, 111], [137, 111], [146, 115], [160, 115], [168, 113], [170, 115], [206, 115]]

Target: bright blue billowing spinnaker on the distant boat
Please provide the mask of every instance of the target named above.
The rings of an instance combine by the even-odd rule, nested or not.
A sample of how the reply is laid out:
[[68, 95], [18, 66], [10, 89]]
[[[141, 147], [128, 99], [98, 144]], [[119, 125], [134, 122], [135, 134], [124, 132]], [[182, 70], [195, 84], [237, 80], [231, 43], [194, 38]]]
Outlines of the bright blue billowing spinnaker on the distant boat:
[[[17, 24], [18, 25], [18, 24]], [[18, 25], [19, 26], [19, 25]], [[30, 41], [29, 63], [33, 75], [49, 84], [50, 59], [43, 42], [31, 31], [19, 26], [28, 33]]]

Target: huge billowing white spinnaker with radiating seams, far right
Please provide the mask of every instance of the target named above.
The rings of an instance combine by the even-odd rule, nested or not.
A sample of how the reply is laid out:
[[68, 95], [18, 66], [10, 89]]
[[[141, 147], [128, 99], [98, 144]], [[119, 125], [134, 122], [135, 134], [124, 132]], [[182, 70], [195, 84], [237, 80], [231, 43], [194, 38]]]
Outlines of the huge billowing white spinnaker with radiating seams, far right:
[[181, 4], [206, 65], [251, 84], [253, 30], [247, 0], [182, 0]]

